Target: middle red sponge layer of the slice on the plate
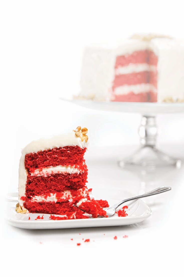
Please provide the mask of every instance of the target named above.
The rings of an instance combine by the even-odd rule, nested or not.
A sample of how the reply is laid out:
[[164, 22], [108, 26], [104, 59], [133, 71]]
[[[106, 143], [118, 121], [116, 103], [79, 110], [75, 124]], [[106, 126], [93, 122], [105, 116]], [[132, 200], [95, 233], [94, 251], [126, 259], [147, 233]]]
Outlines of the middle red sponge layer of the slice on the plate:
[[62, 192], [65, 189], [79, 189], [87, 183], [87, 170], [84, 173], [62, 173], [48, 176], [27, 176], [26, 197]]

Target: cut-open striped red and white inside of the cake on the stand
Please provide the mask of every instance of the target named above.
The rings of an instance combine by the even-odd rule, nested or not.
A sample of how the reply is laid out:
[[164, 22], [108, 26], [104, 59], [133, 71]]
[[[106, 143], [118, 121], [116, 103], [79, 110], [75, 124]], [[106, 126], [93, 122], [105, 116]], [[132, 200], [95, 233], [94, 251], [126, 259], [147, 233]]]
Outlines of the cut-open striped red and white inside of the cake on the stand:
[[156, 102], [158, 57], [147, 41], [130, 39], [129, 44], [130, 49], [116, 50], [111, 100]]

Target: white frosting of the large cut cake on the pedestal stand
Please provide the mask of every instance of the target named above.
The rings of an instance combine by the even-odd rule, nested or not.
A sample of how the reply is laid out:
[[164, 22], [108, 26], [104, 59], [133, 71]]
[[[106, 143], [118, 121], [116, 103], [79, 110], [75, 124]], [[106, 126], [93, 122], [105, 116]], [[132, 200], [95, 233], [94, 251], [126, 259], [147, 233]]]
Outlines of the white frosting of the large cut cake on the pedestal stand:
[[[139, 68], [138, 71], [138, 68], [129, 65], [114, 72], [116, 57], [146, 49], [152, 50], [158, 56], [158, 102], [167, 97], [184, 99], [184, 42], [168, 38], [155, 38], [150, 42], [129, 39], [119, 43], [119, 46], [86, 48], [82, 63], [80, 96], [108, 100], [115, 74], [143, 70]], [[143, 86], [145, 89], [141, 88], [141, 92], [148, 91], [147, 84]], [[135, 93], [139, 93], [138, 87], [135, 88]], [[118, 91], [121, 91], [120, 94], [126, 94], [130, 89], [121, 87], [116, 89], [116, 94]]]

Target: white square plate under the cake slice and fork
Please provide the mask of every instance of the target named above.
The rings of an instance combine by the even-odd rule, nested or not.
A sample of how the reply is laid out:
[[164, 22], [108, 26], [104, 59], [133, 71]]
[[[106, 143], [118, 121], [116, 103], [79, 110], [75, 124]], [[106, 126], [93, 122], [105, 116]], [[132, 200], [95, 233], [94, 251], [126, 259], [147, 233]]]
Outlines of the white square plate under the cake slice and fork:
[[[94, 188], [95, 199], [106, 199], [110, 206], [119, 202], [121, 199], [130, 198], [133, 195], [119, 188]], [[89, 219], [69, 219], [69, 220], [51, 220], [49, 214], [17, 214], [15, 206], [18, 202], [18, 193], [9, 193], [6, 196], [6, 221], [18, 228], [22, 229], [64, 229], [64, 228], [84, 228], [84, 227], [106, 227], [106, 226], [121, 226], [130, 225], [142, 222], [151, 216], [151, 209], [140, 199], [127, 202], [128, 216], [118, 217], [115, 214], [109, 218], [89, 218]], [[118, 209], [121, 209], [120, 206]], [[37, 216], [42, 216], [44, 219], [35, 220]], [[30, 220], [28, 219], [30, 217]]]

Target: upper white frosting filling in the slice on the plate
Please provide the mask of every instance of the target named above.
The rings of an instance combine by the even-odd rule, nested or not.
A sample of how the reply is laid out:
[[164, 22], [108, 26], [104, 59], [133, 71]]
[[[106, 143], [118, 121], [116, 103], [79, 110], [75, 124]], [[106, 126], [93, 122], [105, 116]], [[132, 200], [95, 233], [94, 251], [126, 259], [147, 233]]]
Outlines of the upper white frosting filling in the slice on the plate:
[[67, 172], [70, 174], [74, 174], [74, 173], [82, 173], [82, 171], [80, 171], [78, 168], [74, 167], [74, 166], [49, 166], [46, 168], [42, 168], [41, 170], [36, 169], [34, 172], [31, 173], [31, 175], [34, 176], [47, 176], [50, 174], [55, 174], [55, 173], [63, 173], [63, 172]]

